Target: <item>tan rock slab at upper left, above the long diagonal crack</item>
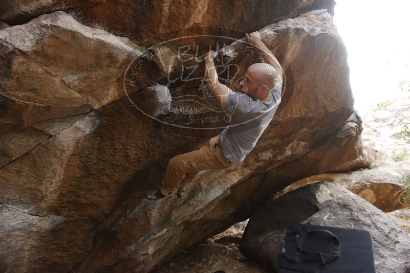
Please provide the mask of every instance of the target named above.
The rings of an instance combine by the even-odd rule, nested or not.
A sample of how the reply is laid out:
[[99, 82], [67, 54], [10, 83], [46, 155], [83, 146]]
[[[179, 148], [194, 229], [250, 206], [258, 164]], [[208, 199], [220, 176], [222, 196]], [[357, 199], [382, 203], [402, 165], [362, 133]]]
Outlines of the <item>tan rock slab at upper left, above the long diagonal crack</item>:
[[[0, 31], [0, 167], [93, 109], [126, 96], [117, 88], [125, 60], [145, 50], [124, 37], [83, 26], [64, 12]], [[144, 58], [147, 59], [146, 57]], [[139, 70], [134, 90], [165, 77], [156, 59]]]

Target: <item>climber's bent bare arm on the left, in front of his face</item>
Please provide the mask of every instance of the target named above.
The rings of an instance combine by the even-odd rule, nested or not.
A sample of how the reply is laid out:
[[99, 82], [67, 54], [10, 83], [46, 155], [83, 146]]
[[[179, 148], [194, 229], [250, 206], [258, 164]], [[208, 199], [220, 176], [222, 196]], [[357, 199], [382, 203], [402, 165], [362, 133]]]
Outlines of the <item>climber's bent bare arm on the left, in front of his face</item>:
[[217, 99], [221, 101], [223, 108], [226, 109], [228, 95], [233, 91], [225, 84], [219, 82], [218, 73], [213, 63], [215, 56], [217, 56], [217, 53], [214, 51], [209, 51], [204, 54], [206, 80], [211, 88], [212, 95], [217, 97]]

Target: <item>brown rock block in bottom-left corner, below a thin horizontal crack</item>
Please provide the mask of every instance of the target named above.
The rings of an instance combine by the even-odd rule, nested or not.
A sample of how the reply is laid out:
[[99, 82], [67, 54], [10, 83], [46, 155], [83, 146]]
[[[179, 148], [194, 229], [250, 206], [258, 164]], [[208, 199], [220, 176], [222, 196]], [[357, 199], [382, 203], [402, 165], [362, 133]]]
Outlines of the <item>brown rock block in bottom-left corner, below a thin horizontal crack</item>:
[[90, 251], [94, 232], [87, 217], [40, 217], [2, 204], [0, 271], [67, 272]]

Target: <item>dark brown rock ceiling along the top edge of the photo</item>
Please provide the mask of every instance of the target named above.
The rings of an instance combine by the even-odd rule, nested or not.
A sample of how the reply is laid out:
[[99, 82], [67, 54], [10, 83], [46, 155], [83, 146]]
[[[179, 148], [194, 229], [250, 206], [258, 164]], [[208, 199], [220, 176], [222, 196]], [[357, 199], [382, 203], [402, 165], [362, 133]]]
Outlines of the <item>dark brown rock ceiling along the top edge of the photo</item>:
[[[104, 29], [118, 36], [130, 38], [144, 45], [155, 36], [178, 30], [180, 36], [250, 32], [274, 22], [295, 17], [316, 9], [334, 14], [334, 0], [6, 0], [0, 3], [0, 20], [8, 24], [22, 24], [41, 14], [66, 11], [88, 26]], [[231, 32], [230, 30], [235, 30]], [[184, 34], [183, 34], [184, 33]], [[236, 34], [239, 35], [239, 34]], [[151, 39], [151, 40], [150, 40]], [[199, 43], [199, 45], [201, 45]]]

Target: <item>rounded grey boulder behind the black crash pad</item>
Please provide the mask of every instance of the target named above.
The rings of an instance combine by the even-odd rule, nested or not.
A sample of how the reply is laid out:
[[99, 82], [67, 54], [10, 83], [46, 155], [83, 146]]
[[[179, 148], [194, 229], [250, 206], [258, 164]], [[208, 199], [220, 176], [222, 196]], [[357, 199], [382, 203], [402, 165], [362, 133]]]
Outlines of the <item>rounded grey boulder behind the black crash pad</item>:
[[288, 224], [304, 221], [369, 231], [376, 272], [410, 271], [407, 233], [369, 202], [327, 181], [301, 187], [258, 209], [249, 219], [240, 249], [247, 258], [277, 269], [280, 241], [285, 238]]

